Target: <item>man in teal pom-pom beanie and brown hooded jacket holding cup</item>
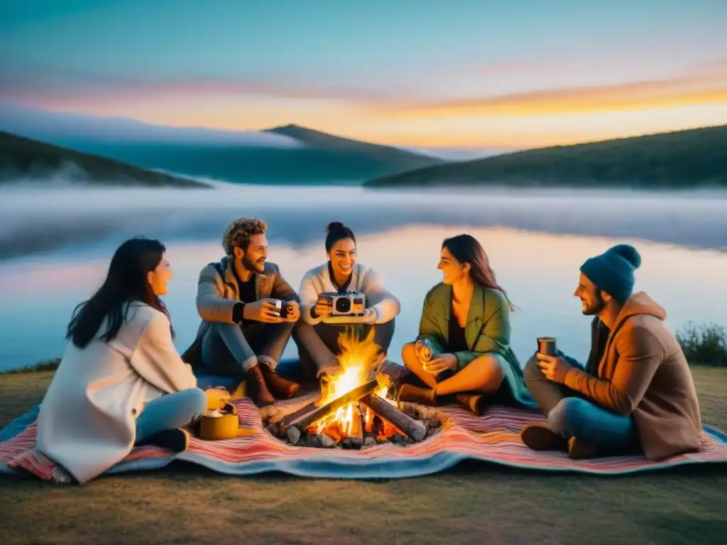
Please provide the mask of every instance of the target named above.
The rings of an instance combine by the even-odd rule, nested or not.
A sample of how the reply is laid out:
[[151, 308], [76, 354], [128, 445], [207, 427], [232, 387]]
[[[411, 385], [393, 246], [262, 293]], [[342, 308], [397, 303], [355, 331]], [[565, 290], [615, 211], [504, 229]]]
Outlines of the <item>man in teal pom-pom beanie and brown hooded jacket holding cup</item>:
[[632, 293], [641, 257], [619, 244], [581, 266], [574, 296], [591, 324], [585, 366], [563, 352], [535, 354], [525, 382], [547, 424], [523, 428], [537, 451], [574, 459], [643, 453], [665, 459], [699, 450], [699, 402], [684, 354], [664, 325], [666, 312]]

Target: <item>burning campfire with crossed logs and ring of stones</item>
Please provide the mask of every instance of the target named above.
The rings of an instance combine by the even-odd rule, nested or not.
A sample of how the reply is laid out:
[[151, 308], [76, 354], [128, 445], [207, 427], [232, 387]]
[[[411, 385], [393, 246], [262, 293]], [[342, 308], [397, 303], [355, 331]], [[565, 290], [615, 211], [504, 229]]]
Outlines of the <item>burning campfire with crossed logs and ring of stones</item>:
[[381, 443], [410, 445], [441, 427], [425, 408], [402, 411], [390, 399], [390, 377], [380, 372], [383, 358], [374, 331], [359, 339], [341, 334], [340, 372], [321, 385], [321, 397], [268, 423], [268, 431], [292, 445], [321, 448], [368, 448]]

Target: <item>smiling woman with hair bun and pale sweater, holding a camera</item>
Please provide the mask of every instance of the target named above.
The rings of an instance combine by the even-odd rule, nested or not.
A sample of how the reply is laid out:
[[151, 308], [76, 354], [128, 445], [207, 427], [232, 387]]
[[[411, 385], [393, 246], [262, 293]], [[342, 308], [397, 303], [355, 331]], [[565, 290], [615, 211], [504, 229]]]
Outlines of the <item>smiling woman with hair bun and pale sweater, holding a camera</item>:
[[[373, 328], [374, 342], [385, 354], [394, 334], [394, 318], [401, 308], [398, 299], [385, 288], [381, 277], [356, 261], [356, 236], [353, 231], [340, 222], [332, 222], [326, 227], [326, 233], [328, 261], [305, 273], [298, 291], [301, 318], [313, 326], [327, 348], [308, 354], [299, 346], [304, 373], [310, 375], [313, 374], [311, 370], [316, 369], [317, 376], [330, 373], [337, 367], [338, 338], [346, 328], [353, 327], [360, 339]], [[351, 318], [350, 321], [332, 318], [330, 301], [321, 294], [343, 294], [346, 291], [364, 294], [366, 308], [363, 317]]]

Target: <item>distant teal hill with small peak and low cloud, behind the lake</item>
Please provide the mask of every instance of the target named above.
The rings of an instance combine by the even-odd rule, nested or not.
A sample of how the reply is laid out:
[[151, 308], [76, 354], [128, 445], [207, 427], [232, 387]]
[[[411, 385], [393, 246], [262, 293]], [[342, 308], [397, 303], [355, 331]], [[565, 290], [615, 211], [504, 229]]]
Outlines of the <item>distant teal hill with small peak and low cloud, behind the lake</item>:
[[0, 127], [143, 169], [240, 183], [359, 184], [446, 162], [297, 125], [235, 132], [0, 104]]

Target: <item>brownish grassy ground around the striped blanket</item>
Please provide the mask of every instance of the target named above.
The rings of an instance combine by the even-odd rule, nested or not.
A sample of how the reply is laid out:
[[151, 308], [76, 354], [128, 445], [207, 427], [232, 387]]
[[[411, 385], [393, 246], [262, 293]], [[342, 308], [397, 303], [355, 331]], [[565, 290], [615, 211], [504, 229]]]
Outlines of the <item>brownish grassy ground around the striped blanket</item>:
[[[52, 374], [0, 376], [0, 427]], [[727, 429], [727, 369], [694, 368], [704, 421]], [[709, 544], [727, 472], [541, 475], [465, 464], [407, 480], [224, 477], [177, 466], [84, 487], [0, 477], [4, 544]]]

